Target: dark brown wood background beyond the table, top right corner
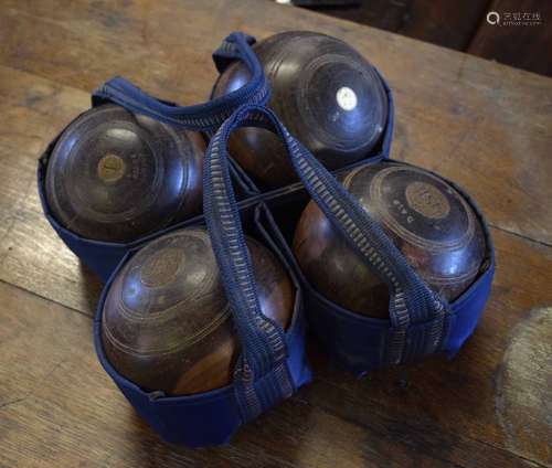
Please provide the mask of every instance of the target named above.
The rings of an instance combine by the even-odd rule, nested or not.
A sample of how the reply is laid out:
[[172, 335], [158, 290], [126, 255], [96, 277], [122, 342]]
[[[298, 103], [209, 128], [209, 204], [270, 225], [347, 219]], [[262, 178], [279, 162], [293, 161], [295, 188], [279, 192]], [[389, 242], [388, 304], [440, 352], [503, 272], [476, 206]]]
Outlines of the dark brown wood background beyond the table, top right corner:
[[[300, 1], [294, 3], [304, 6]], [[323, 2], [315, 0], [305, 6], [323, 14], [552, 75], [552, 2], [548, 0], [360, 0], [348, 8], [322, 8], [317, 3]], [[487, 22], [490, 11], [501, 15], [499, 25]], [[514, 13], [535, 13], [541, 21], [503, 21], [513, 19]]]

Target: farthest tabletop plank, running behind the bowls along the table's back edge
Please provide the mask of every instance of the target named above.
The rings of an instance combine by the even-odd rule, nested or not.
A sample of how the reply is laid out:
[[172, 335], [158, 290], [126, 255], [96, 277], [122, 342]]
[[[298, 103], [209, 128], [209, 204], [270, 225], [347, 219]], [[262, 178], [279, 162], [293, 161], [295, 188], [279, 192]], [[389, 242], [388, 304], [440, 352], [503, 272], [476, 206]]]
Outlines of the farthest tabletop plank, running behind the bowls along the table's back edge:
[[309, 29], [348, 41], [395, 93], [393, 157], [453, 178], [495, 226], [552, 244], [548, 77], [256, 0], [10, 0], [0, 18], [0, 63], [87, 92], [121, 74], [153, 94], [195, 103], [215, 77], [210, 53], [236, 29], [257, 38]]

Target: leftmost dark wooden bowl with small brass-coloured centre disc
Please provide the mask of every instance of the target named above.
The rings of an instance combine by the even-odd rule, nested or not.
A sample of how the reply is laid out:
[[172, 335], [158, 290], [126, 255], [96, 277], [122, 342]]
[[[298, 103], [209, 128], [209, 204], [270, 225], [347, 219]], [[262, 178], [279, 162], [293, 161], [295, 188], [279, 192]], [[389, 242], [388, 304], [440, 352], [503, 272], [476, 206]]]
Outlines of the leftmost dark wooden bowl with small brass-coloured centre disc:
[[205, 143], [116, 105], [94, 107], [61, 135], [45, 195], [83, 237], [130, 242], [201, 212]]

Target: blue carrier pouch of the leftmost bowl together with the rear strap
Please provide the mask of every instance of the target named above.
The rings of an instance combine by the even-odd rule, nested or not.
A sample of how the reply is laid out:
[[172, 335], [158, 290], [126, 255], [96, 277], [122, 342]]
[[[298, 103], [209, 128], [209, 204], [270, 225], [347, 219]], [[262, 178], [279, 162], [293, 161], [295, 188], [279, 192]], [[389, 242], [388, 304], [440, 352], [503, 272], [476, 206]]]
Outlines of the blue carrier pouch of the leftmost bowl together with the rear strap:
[[[269, 97], [263, 71], [250, 47], [250, 44], [254, 42], [255, 39], [246, 34], [232, 33], [213, 53], [213, 61], [220, 73], [232, 61], [241, 60], [252, 76], [251, 81], [242, 88], [220, 99], [188, 107], [177, 106], [156, 99], [128, 81], [116, 77], [93, 93], [92, 105], [95, 107], [104, 103], [115, 103], [131, 111], [147, 115], [176, 127], [202, 131], [209, 137], [240, 105], [244, 103], [263, 104]], [[159, 233], [149, 234], [130, 243], [114, 243], [84, 238], [63, 227], [52, 215], [44, 194], [47, 160], [60, 136], [61, 134], [47, 146], [39, 159], [38, 185], [44, 215], [67, 247], [105, 281], [128, 251], [157, 237]], [[255, 187], [237, 164], [232, 163], [231, 171], [241, 198], [248, 198], [256, 193]]]

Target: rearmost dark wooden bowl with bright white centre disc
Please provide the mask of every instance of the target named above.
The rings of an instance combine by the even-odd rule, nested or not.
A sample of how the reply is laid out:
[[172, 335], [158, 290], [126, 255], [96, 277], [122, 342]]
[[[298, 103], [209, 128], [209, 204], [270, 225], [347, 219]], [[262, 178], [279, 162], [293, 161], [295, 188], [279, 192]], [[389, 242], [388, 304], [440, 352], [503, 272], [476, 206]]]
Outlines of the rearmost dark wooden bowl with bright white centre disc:
[[[344, 42], [329, 35], [293, 31], [254, 45], [273, 109], [327, 168], [337, 169], [370, 155], [388, 120], [388, 96], [374, 67]], [[219, 78], [213, 97], [243, 86], [250, 74], [232, 64]], [[233, 132], [230, 153], [267, 188], [297, 180], [279, 140], [268, 130]]]

